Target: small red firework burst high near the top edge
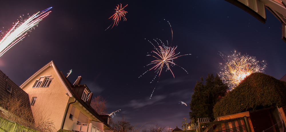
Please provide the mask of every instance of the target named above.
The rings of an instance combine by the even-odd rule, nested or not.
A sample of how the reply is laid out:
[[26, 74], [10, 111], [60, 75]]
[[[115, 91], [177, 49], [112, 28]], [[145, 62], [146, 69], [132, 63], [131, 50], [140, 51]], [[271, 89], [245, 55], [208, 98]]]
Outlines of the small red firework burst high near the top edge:
[[[127, 5], [126, 5], [126, 6], [127, 6]], [[126, 6], [125, 6], [125, 7], [126, 7]], [[121, 4], [120, 4], [120, 8], [119, 8], [119, 5], [116, 7], [116, 9], [115, 9], [115, 10], [116, 10], [116, 13], [114, 13], [114, 14], [111, 16], [111, 17], [113, 17], [112, 20], [114, 21], [114, 22], [113, 22], [113, 25], [111, 24], [111, 25], [112, 25], [111, 29], [114, 27], [114, 25], [115, 25], [115, 26], [118, 25], [119, 21], [121, 20], [121, 17], [123, 18], [123, 21], [126, 21], [125, 14], [127, 13], [127, 11], [124, 11], [123, 9], [124, 9], [124, 7], [122, 8], [122, 5], [121, 5]], [[111, 17], [110, 17], [110, 18], [111, 18]], [[110, 18], [108, 18], [108, 19], [110, 19]], [[110, 25], [110, 26], [111, 26], [111, 25]], [[109, 26], [109, 27], [110, 27], [110, 26]], [[109, 27], [108, 27], [108, 28], [109, 28]], [[107, 28], [107, 29], [108, 29], [108, 28]], [[105, 30], [107, 30], [107, 29], [105, 29]]]

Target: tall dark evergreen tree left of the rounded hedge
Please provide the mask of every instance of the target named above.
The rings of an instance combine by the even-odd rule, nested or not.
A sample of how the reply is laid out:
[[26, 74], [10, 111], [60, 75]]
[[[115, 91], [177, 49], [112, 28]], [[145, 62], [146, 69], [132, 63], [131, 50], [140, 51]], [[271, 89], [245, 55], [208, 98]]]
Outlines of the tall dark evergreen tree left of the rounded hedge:
[[208, 73], [205, 85], [203, 81], [202, 77], [197, 81], [190, 103], [189, 115], [195, 123], [198, 118], [203, 117], [209, 117], [210, 121], [215, 120], [212, 109], [221, 97], [225, 96], [228, 89], [227, 84], [223, 83], [218, 74], [214, 77], [213, 74]]

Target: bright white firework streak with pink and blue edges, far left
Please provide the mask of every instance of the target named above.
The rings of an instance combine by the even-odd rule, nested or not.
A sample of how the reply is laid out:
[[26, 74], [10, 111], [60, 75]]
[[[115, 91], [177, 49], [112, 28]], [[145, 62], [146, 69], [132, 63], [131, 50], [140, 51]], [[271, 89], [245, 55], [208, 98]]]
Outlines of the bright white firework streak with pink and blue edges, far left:
[[34, 28], [35, 25], [37, 25], [44, 17], [49, 15], [51, 11], [46, 11], [51, 8], [52, 7], [45, 9], [41, 12], [37, 12], [24, 22], [18, 21], [0, 41], [0, 56], [2, 56], [13, 45], [24, 39], [27, 32], [31, 31], [31, 29]]

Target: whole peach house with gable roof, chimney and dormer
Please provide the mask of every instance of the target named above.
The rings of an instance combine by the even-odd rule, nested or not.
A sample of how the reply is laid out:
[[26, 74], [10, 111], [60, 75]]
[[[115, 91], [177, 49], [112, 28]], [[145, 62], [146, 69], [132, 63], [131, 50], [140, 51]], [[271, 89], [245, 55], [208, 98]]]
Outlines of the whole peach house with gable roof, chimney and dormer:
[[51, 61], [20, 87], [29, 94], [34, 117], [49, 116], [57, 130], [108, 132], [110, 116], [101, 117], [90, 106], [92, 93], [81, 80], [72, 84]]

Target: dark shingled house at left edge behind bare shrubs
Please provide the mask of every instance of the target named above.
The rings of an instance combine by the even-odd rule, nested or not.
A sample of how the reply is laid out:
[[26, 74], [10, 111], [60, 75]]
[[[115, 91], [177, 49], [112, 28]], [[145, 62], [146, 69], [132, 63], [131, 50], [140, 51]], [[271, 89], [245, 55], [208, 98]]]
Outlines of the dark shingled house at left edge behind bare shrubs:
[[[15, 101], [14, 99], [16, 99], [17, 101]], [[26, 118], [25, 119], [26, 121], [30, 121], [31, 123], [33, 123], [34, 119], [33, 119], [32, 110], [30, 107], [29, 95], [25, 91], [23, 91], [18, 85], [16, 85], [11, 79], [9, 79], [9, 77], [5, 75], [1, 70], [0, 70], [0, 100], [1, 102], [8, 101], [6, 103], [11, 103], [9, 101], [15, 101], [15, 103], [16, 102], [20, 103], [20, 104], [13, 104], [13, 105], [17, 105], [17, 106], [20, 106], [21, 108], [26, 109], [25, 111], [27, 113], [26, 117], [21, 117], [21, 118]], [[6, 104], [6, 105], [9, 105], [9, 104]], [[5, 113], [7, 113], [7, 111], [4, 110], [3, 108], [0, 108], [0, 113], [1, 111], [4, 112], [2, 113], [4, 115]], [[14, 113], [14, 114], [18, 114], [18, 113]]]

